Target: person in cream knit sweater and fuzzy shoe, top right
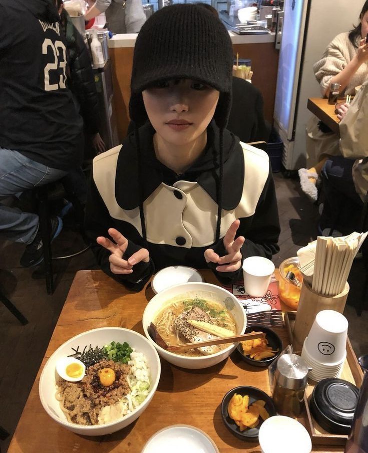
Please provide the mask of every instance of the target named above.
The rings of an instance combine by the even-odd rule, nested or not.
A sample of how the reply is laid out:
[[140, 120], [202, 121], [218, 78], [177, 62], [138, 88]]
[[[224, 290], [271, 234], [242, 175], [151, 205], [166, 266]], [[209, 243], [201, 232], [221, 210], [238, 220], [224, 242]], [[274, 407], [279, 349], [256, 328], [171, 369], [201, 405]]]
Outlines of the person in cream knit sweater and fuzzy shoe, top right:
[[[359, 24], [350, 32], [337, 35], [327, 46], [322, 58], [313, 65], [322, 97], [327, 97], [331, 83], [340, 84], [340, 93], [354, 95], [355, 87], [368, 81], [368, 0], [364, 3]], [[313, 116], [306, 127], [307, 165], [299, 173], [302, 190], [313, 201], [317, 199], [316, 180], [328, 156], [340, 155], [337, 134]]]

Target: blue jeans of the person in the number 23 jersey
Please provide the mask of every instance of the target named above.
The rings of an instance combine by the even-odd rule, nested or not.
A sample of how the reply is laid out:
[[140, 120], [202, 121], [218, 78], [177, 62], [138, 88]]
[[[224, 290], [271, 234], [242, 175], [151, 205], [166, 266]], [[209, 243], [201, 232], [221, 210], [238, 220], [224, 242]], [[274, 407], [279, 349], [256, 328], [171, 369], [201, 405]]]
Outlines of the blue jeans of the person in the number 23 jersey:
[[[35, 162], [18, 151], [0, 147], [0, 199], [56, 181], [67, 171]], [[0, 237], [31, 244], [39, 229], [39, 216], [0, 203]]]

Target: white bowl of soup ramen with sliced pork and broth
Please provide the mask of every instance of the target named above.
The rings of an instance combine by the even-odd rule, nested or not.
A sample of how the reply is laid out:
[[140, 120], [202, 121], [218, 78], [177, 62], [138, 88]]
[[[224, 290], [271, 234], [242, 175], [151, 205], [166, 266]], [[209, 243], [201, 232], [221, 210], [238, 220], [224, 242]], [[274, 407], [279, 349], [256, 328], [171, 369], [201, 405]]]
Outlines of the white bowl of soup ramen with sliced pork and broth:
[[[198, 324], [193, 325], [193, 320], [200, 322], [200, 328]], [[151, 338], [151, 323], [168, 346], [175, 346], [218, 338], [216, 327], [226, 329], [223, 336], [231, 336], [231, 332], [233, 335], [242, 334], [246, 328], [246, 315], [242, 305], [229, 291], [209, 283], [192, 282], [156, 294], [145, 308], [142, 323], [146, 337], [162, 358], [183, 368], [200, 369], [226, 359], [238, 343], [174, 353], [159, 346]], [[215, 333], [212, 332], [213, 326]]]

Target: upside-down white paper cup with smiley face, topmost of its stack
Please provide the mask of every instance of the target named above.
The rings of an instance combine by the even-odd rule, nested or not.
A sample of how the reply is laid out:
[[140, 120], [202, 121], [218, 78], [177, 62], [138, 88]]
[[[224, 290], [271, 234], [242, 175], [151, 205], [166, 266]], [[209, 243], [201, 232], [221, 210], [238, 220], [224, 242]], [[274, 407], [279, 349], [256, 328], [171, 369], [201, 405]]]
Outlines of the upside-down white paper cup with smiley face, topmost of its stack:
[[334, 310], [317, 313], [304, 342], [308, 355], [318, 363], [337, 365], [346, 351], [347, 319]]

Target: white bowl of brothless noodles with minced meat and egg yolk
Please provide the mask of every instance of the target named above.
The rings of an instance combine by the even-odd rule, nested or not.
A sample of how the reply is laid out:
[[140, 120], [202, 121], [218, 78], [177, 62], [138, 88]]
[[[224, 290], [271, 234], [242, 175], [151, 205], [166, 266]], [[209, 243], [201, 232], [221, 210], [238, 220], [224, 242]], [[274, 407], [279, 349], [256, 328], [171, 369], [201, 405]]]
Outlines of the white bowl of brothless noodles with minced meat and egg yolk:
[[[73, 359], [68, 358], [72, 354]], [[70, 378], [79, 372], [81, 362], [75, 358], [85, 371], [82, 366], [82, 376]], [[141, 415], [160, 374], [160, 358], [143, 335], [102, 327], [76, 335], [54, 352], [41, 374], [40, 399], [50, 417], [65, 428], [83, 435], [110, 434]]]

